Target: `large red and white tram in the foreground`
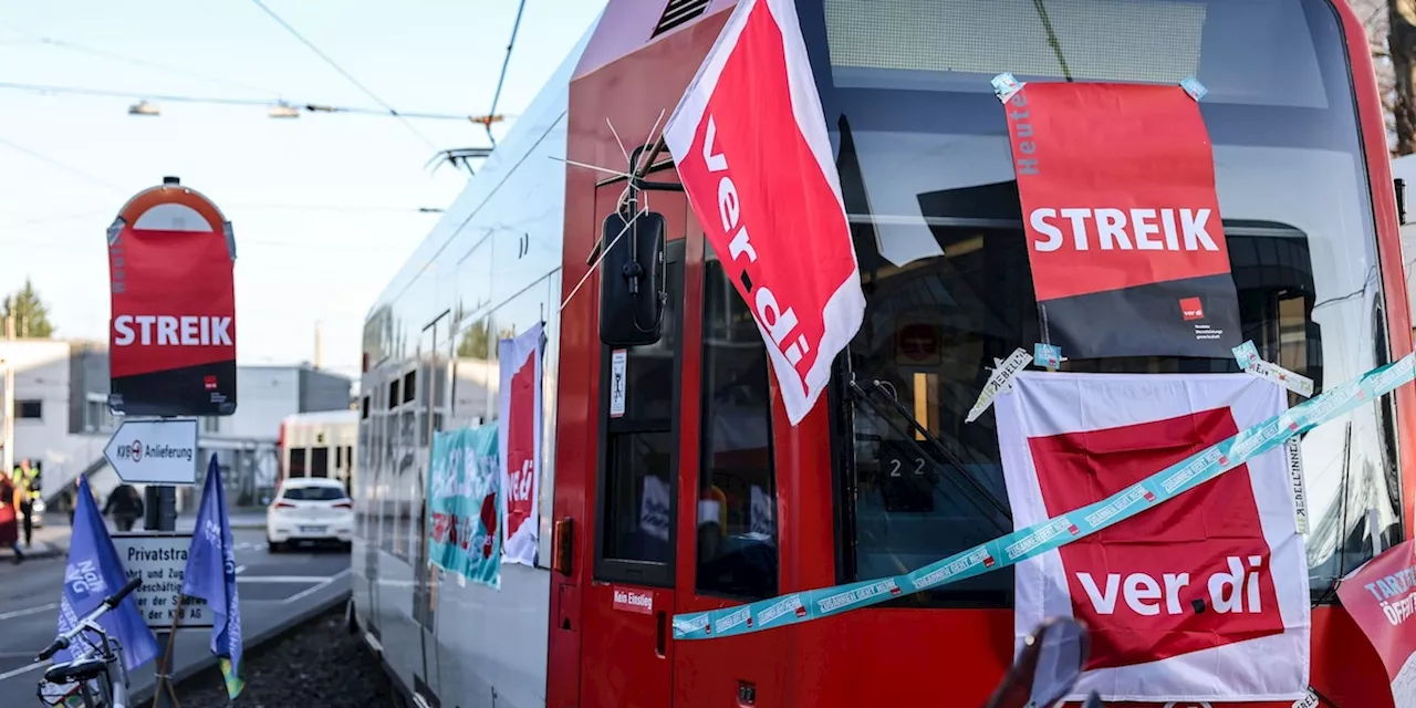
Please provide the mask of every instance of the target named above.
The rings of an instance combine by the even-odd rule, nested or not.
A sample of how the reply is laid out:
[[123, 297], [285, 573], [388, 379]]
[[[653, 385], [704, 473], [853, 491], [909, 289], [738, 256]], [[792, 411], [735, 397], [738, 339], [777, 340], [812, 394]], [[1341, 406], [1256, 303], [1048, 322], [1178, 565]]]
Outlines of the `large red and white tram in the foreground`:
[[[626, 180], [566, 166], [624, 171], [732, 0], [609, 0], [370, 310], [353, 602], [411, 702], [984, 702], [1012, 660], [1011, 569], [728, 639], [674, 641], [670, 620], [906, 572], [1011, 531], [1005, 513], [971, 497], [1008, 500], [994, 415], [964, 425], [994, 358], [1041, 341], [1008, 127], [990, 86], [1000, 72], [1199, 76], [1242, 337], [1320, 391], [1412, 350], [1381, 99], [1347, 1], [796, 7], [867, 296], [830, 395], [800, 425], [787, 423], [753, 317], [684, 194], [641, 193], [667, 235], [651, 263], [661, 320], [639, 319], [605, 307], [609, 269], [590, 272]], [[660, 187], [678, 180], [667, 153], [647, 173]], [[500, 590], [460, 583], [428, 562], [432, 435], [497, 416], [497, 340], [541, 321], [539, 564], [504, 565]], [[653, 344], [610, 347], [606, 321], [661, 329]], [[1239, 371], [1181, 358], [1063, 368]], [[1412, 537], [1413, 415], [1416, 387], [1405, 387], [1303, 440], [1311, 685], [1324, 707], [1392, 705], [1332, 588], [1374, 545]], [[292, 457], [290, 473], [312, 473], [312, 455]], [[898, 470], [912, 473], [908, 487]]]

